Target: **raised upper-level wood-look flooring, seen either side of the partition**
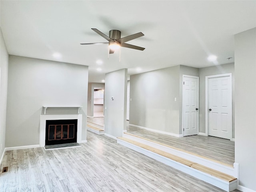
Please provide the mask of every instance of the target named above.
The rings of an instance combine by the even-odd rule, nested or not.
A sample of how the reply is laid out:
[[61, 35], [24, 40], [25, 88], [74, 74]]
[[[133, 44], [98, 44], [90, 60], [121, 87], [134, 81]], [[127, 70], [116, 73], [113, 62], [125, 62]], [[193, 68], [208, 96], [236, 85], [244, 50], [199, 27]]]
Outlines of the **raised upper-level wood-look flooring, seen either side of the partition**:
[[[97, 122], [104, 125], [104, 118], [87, 118], [90, 122]], [[152, 131], [148, 131], [141, 128], [129, 126], [127, 121], [127, 132], [160, 142], [175, 148], [180, 148], [188, 152], [192, 152], [207, 158], [233, 165], [235, 159], [235, 143], [233, 141], [217, 138], [212, 136], [186, 136], [186, 137], [174, 137], [166, 134], [160, 134]]]

